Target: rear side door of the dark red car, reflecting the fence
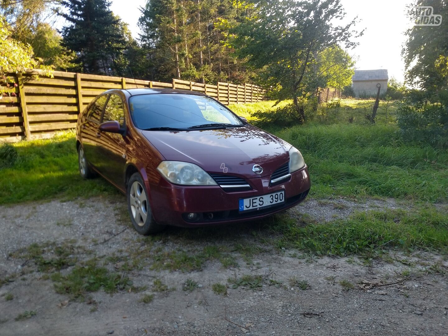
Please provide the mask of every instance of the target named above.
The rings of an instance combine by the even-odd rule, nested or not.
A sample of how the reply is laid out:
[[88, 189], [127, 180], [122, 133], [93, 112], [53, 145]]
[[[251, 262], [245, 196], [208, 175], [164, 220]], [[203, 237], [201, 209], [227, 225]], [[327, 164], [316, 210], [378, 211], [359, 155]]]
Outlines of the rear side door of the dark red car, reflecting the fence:
[[103, 114], [104, 105], [108, 99], [107, 95], [99, 96], [87, 112], [86, 119], [81, 125], [82, 147], [87, 161], [98, 169], [98, 145], [99, 145], [99, 122]]

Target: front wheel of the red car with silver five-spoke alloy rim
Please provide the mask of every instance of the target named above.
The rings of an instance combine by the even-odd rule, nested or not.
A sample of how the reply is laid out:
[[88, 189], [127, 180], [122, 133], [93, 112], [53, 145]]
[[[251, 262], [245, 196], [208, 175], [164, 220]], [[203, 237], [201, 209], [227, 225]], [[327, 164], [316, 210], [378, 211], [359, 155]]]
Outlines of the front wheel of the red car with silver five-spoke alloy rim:
[[132, 174], [129, 179], [126, 195], [128, 197], [129, 216], [138, 233], [147, 236], [164, 229], [164, 225], [157, 224], [152, 216], [148, 192], [142, 176], [138, 172]]

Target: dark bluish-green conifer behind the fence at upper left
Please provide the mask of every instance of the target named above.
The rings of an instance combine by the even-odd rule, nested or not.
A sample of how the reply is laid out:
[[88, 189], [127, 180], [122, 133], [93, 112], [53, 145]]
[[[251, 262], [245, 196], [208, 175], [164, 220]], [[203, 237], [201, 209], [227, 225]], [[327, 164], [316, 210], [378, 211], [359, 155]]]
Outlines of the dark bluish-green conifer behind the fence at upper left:
[[106, 0], [63, 0], [68, 13], [61, 14], [70, 26], [62, 28], [64, 45], [77, 53], [82, 71], [113, 74], [125, 49], [120, 19]]

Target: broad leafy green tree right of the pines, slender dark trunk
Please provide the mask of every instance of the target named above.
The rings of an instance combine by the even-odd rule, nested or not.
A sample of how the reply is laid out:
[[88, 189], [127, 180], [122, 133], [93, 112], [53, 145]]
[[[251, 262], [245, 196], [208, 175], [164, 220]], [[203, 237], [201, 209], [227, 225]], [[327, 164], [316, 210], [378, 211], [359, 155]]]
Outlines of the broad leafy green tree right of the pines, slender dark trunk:
[[[303, 122], [305, 115], [297, 97], [306, 98], [326, 84], [332, 78], [330, 72], [337, 69], [336, 63], [342, 62], [344, 70], [351, 67], [348, 55], [335, 46], [355, 45], [349, 41], [354, 21], [347, 26], [330, 24], [333, 18], [343, 15], [338, 1], [269, 0], [255, 4], [256, 13], [247, 15], [233, 29], [233, 47], [238, 56], [247, 58], [247, 63], [260, 72], [263, 86], [272, 88], [272, 97], [294, 99]], [[322, 64], [318, 67], [319, 58]]]

